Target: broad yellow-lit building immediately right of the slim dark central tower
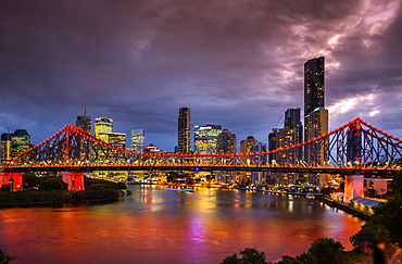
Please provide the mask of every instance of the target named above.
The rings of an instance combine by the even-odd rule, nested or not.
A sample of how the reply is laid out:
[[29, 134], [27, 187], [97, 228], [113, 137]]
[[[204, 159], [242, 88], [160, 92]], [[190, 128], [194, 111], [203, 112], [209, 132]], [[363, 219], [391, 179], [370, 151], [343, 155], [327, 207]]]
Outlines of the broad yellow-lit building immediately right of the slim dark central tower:
[[198, 154], [215, 154], [217, 136], [221, 133], [221, 125], [194, 126], [194, 152]]

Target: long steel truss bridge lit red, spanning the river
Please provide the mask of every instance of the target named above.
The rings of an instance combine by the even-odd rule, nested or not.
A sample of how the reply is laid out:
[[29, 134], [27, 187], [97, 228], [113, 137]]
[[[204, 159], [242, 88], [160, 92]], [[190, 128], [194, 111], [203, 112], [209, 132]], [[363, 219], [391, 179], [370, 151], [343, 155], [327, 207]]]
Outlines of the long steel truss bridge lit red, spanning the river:
[[[267, 155], [301, 159], [266, 161]], [[41, 143], [0, 166], [0, 184], [24, 172], [64, 172], [78, 178], [93, 171], [251, 171], [392, 177], [401, 171], [402, 139], [361, 118], [312, 140], [257, 153], [143, 153], [109, 144], [66, 125]], [[14, 176], [13, 176], [14, 175]], [[18, 181], [18, 180], [17, 180]], [[81, 180], [80, 180], [81, 181]], [[78, 185], [79, 186], [79, 185]], [[84, 188], [84, 186], [83, 186]]]

